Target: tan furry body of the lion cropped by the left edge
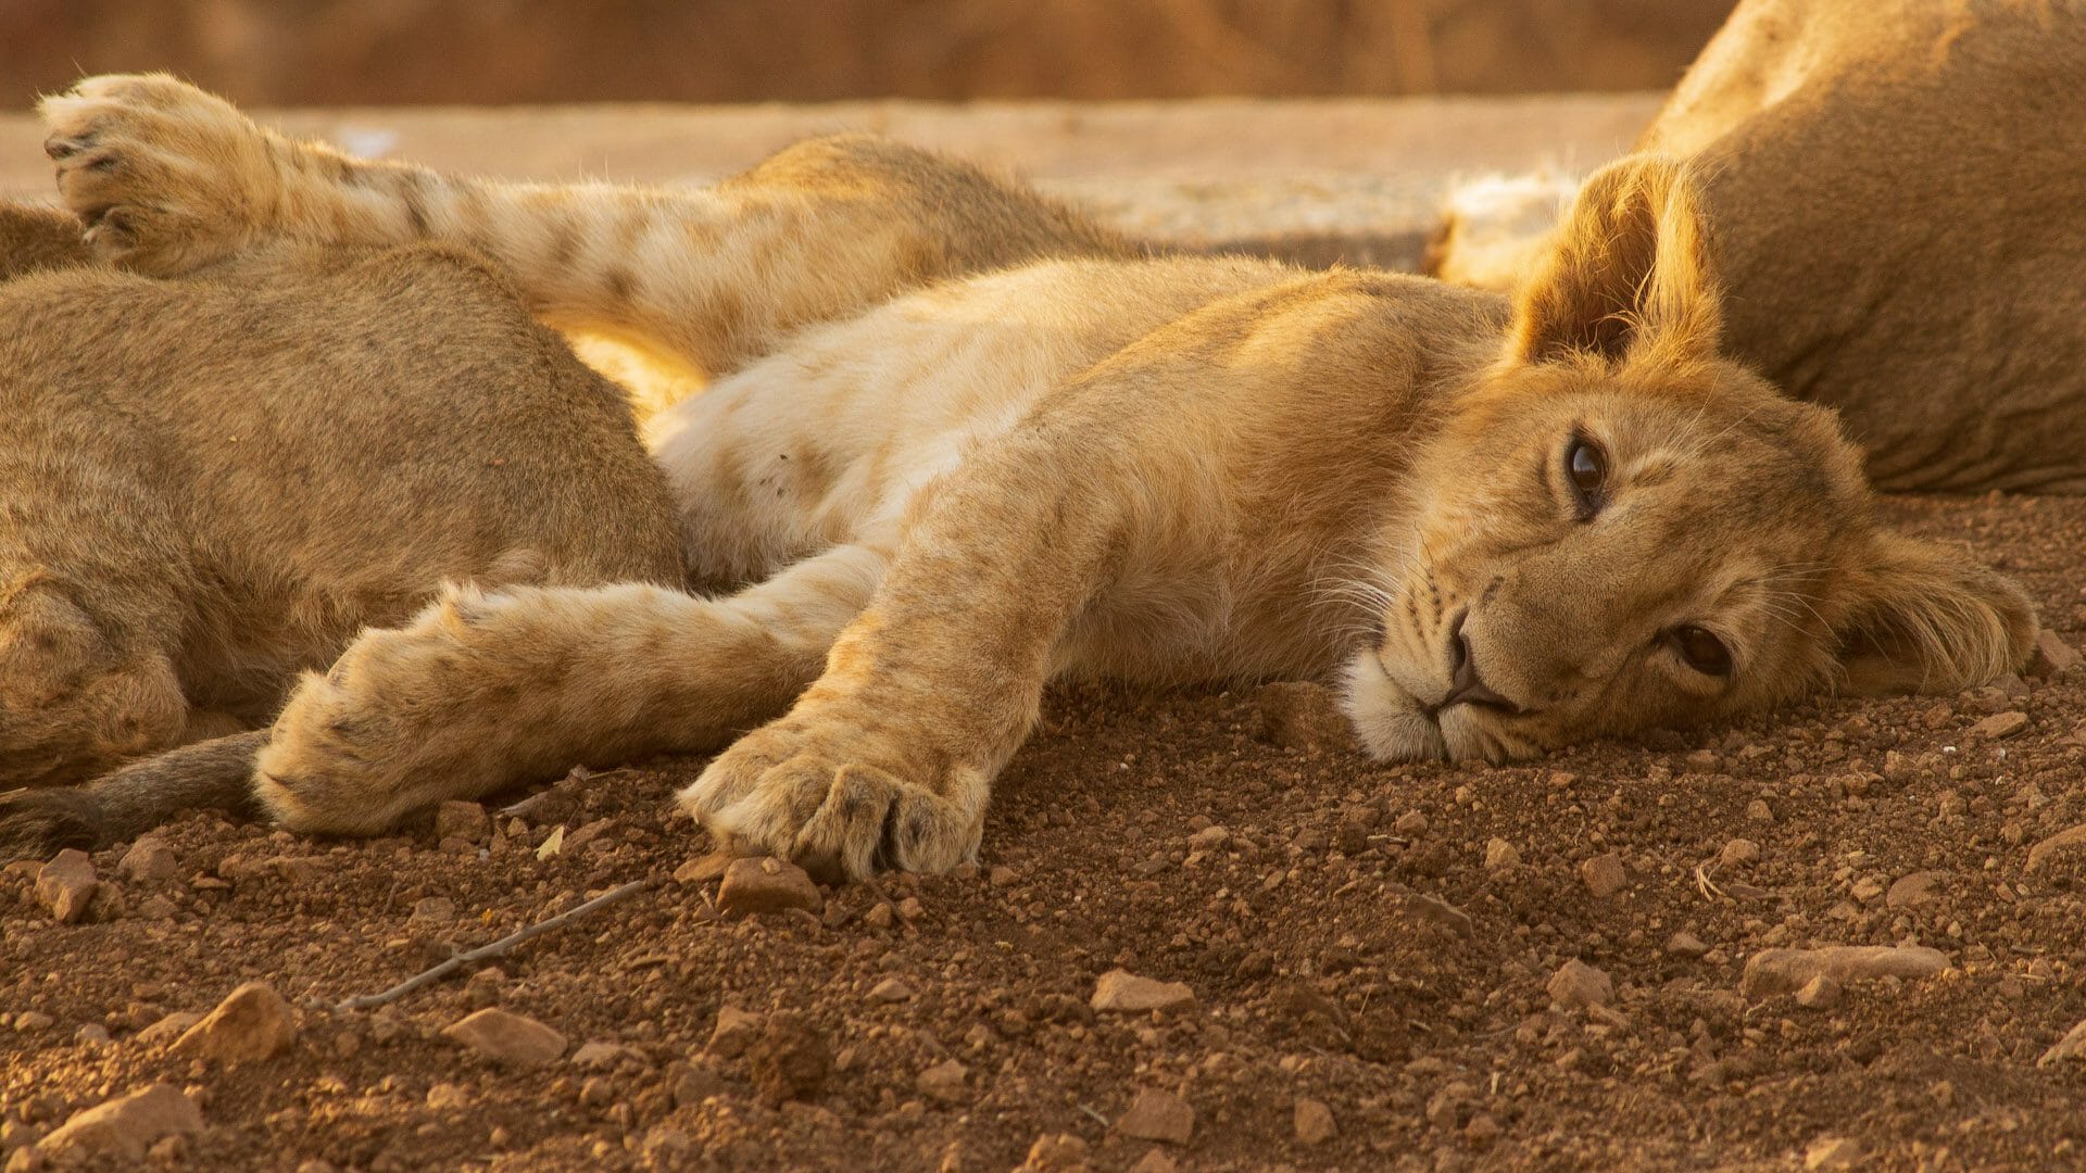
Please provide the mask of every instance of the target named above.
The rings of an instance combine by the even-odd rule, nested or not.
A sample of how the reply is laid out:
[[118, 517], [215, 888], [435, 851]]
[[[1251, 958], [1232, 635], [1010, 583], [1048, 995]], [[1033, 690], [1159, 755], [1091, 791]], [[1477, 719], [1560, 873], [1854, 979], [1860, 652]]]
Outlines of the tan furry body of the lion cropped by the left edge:
[[680, 580], [628, 407], [482, 261], [77, 240], [0, 213], [0, 789], [267, 722], [444, 578]]

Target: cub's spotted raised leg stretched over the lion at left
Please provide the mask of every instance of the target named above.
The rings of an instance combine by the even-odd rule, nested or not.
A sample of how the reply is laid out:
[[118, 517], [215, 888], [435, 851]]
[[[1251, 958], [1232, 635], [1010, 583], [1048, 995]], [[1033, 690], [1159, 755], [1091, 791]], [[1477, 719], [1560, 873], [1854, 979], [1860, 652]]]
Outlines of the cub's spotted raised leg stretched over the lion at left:
[[797, 144], [703, 190], [503, 184], [367, 163], [165, 75], [46, 98], [58, 190], [106, 259], [173, 276], [275, 238], [453, 242], [557, 326], [709, 374], [930, 280], [1131, 248], [1018, 186], [870, 136]]

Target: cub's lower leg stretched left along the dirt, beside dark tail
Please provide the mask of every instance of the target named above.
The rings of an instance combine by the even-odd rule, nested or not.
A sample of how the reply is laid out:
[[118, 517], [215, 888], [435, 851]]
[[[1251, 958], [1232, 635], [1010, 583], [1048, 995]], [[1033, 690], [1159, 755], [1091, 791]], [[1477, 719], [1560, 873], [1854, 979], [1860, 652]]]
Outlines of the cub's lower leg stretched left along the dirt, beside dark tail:
[[257, 758], [286, 827], [373, 833], [574, 764], [715, 749], [782, 712], [884, 553], [849, 545], [728, 599], [659, 586], [451, 589], [307, 674]]

